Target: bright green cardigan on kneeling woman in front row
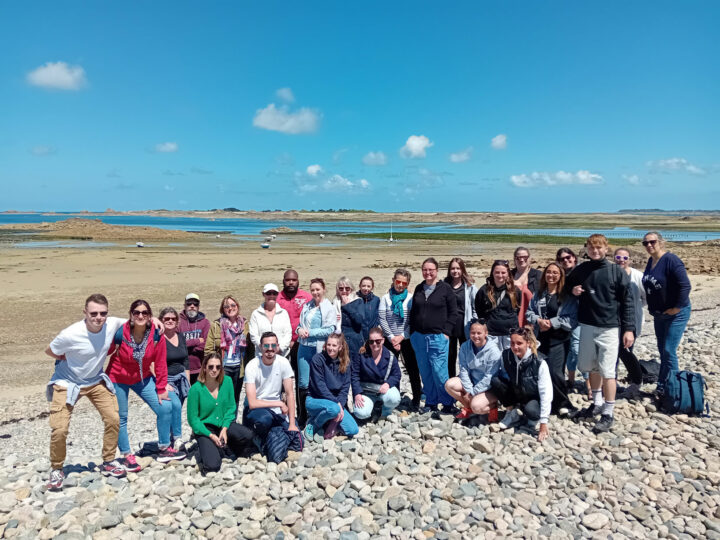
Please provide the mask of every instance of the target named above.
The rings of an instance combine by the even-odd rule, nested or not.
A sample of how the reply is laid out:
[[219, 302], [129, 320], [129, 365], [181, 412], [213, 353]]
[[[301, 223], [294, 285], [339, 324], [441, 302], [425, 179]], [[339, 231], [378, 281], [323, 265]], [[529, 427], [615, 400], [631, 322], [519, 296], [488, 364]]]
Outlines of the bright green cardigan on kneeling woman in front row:
[[210, 435], [205, 424], [220, 428], [230, 427], [235, 420], [235, 394], [230, 377], [223, 378], [215, 399], [204, 383], [197, 381], [188, 394], [188, 424], [195, 435]]

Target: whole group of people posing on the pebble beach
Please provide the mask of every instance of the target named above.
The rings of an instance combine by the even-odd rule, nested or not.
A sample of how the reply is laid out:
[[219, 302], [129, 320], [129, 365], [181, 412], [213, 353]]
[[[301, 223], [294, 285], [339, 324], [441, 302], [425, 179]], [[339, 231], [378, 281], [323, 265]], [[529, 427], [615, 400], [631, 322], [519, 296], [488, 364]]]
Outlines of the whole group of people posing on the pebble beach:
[[[84, 319], [46, 350], [56, 360], [47, 386], [48, 488], [62, 488], [70, 416], [83, 396], [105, 425], [103, 474], [122, 477], [141, 468], [129, 439], [130, 390], [157, 417], [158, 461], [185, 457], [187, 402], [200, 467], [216, 471], [225, 456], [259, 451], [279, 462], [316, 434], [352, 437], [359, 423], [392, 414], [401, 403], [400, 360], [411, 412], [460, 420], [484, 415], [504, 429], [526, 425], [540, 441], [549, 434], [552, 413], [595, 421], [595, 432], [608, 431], [618, 360], [631, 384], [641, 382], [632, 348], [643, 306], [653, 317], [660, 352], [658, 394], [667, 373], [678, 368], [676, 351], [690, 315], [682, 261], [665, 250], [658, 232], [642, 243], [650, 256], [644, 272], [630, 266], [625, 248], [615, 250], [615, 264], [608, 261], [607, 239], [593, 234], [581, 264], [570, 248], [561, 248], [540, 270], [519, 247], [514, 264], [494, 261], [478, 288], [461, 258], [451, 259], [441, 279], [430, 257], [412, 291], [411, 273], [398, 268], [382, 297], [375, 296], [371, 277], [363, 277], [356, 291], [343, 276], [334, 301], [326, 298], [322, 278], [311, 279], [304, 291], [289, 269], [282, 289], [263, 287], [263, 301], [249, 320], [232, 295], [210, 322], [195, 293], [186, 296], [181, 312], [167, 307], [158, 318], [147, 301], [136, 300], [128, 319], [108, 316], [107, 298], [93, 294]], [[568, 397], [576, 370], [587, 379], [591, 399], [582, 410]]]

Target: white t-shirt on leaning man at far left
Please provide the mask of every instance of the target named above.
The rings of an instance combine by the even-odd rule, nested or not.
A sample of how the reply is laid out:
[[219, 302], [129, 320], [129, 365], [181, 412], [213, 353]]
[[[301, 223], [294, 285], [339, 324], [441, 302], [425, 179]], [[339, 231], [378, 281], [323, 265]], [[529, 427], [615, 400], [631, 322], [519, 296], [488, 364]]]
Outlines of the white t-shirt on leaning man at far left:
[[57, 362], [51, 381], [58, 386], [92, 386], [102, 380], [107, 352], [115, 332], [125, 324], [125, 319], [108, 317], [97, 333], [92, 333], [79, 321], [60, 332], [50, 343], [50, 350], [64, 354], [66, 360]]

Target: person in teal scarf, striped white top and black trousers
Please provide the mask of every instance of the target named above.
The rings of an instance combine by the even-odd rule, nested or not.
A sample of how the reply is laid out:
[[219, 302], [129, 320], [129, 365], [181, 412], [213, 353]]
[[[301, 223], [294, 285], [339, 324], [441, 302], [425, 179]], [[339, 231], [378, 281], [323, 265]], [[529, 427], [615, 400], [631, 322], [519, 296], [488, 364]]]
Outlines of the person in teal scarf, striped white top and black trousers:
[[385, 335], [385, 347], [395, 356], [401, 355], [410, 379], [412, 390], [412, 408], [420, 408], [422, 382], [420, 369], [415, 358], [415, 350], [410, 343], [410, 305], [412, 296], [408, 293], [410, 272], [398, 268], [388, 292], [380, 299], [378, 319]]

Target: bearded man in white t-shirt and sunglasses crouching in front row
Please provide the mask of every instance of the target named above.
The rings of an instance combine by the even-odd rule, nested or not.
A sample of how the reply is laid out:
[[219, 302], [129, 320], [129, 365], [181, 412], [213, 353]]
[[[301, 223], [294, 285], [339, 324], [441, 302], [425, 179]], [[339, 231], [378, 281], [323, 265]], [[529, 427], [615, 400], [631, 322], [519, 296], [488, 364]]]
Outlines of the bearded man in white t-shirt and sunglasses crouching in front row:
[[[275, 426], [298, 431], [295, 424], [295, 374], [290, 361], [278, 354], [278, 338], [273, 332], [260, 337], [260, 356], [245, 366], [247, 404], [243, 424], [252, 428], [264, 445]], [[282, 394], [285, 392], [285, 400]]]

